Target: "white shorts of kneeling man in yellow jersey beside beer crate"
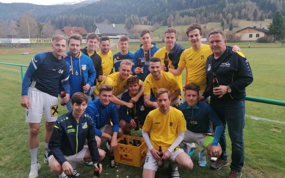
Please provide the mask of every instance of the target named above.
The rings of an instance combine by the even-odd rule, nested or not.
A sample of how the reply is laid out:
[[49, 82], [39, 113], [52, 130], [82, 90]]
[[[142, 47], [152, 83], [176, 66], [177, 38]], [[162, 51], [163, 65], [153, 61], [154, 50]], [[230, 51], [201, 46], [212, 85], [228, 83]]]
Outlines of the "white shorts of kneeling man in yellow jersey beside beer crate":
[[[166, 150], [162, 150], [162, 152], [165, 152]], [[176, 149], [174, 149], [171, 154], [170, 157], [168, 159], [170, 159], [170, 161], [175, 162], [175, 158], [178, 154], [180, 153], [184, 153], [184, 150], [182, 150], [179, 147], [176, 147]], [[146, 159], [144, 161], [144, 169], [150, 169], [150, 170], [154, 170], [157, 171], [158, 169], [158, 164], [157, 164], [157, 160], [152, 156], [150, 150], [147, 150], [146, 153]]]

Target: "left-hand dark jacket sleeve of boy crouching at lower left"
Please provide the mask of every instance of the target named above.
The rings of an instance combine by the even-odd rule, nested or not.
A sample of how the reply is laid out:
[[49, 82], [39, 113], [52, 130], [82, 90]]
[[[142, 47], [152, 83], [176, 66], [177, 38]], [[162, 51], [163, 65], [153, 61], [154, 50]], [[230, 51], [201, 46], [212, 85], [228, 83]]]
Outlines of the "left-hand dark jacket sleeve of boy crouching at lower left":
[[48, 142], [48, 148], [50, 150], [50, 154], [54, 156], [54, 158], [56, 159], [56, 161], [58, 161], [58, 163], [60, 163], [60, 165], [67, 161], [64, 157], [64, 154], [60, 150], [62, 135], [63, 129], [61, 124], [55, 122], [50, 141]]

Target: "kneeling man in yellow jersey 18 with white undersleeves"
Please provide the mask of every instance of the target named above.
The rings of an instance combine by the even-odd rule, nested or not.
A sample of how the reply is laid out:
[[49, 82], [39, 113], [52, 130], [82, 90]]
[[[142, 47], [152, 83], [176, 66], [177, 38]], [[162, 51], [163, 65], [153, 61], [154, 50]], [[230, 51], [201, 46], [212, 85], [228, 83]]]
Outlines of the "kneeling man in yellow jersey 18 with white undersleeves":
[[[184, 138], [186, 124], [181, 111], [170, 106], [170, 91], [165, 88], [158, 89], [155, 94], [159, 108], [152, 110], [146, 116], [142, 135], [148, 152], [144, 162], [143, 178], [154, 178], [158, 169], [158, 160], [170, 159], [171, 176], [180, 177], [178, 166], [187, 170], [193, 168], [191, 158], [178, 146]], [[148, 131], [151, 129], [150, 136]], [[163, 156], [158, 155], [159, 146]]]

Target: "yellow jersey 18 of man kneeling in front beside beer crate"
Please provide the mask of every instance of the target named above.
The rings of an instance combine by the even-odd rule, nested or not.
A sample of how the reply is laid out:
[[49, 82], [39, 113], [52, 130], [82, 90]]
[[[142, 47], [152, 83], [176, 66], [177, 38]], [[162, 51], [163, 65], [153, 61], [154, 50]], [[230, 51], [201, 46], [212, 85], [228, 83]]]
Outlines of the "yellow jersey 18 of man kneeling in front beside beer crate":
[[152, 110], [146, 116], [143, 130], [150, 132], [150, 142], [158, 150], [168, 149], [176, 139], [178, 132], [186, 131], [185, 119], [181, 111], [170, 106], [170, 111], [163, 114], [159, 108]]

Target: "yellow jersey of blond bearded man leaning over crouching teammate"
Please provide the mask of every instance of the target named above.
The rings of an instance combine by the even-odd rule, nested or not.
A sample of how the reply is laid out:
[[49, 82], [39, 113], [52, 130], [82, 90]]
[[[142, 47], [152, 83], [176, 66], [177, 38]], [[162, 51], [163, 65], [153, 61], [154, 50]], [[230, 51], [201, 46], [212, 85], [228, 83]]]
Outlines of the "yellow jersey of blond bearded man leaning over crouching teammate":
[[[127, 79], [131, 77], [129, 75], [125, 80], [119, 79], [119, 72], [114, 72], [108, 75], [101, 83], [98, 83], [96, 88], [94, 89], [94, 93], [96, 96], [99, 94], [99, 88], [103, 84], [109, 84], [113, 87], [113, 95], [118, 96], [123, 93], [127, 89]], [[139, 81], [139, 85], [141, 85], [141, 80]]]

